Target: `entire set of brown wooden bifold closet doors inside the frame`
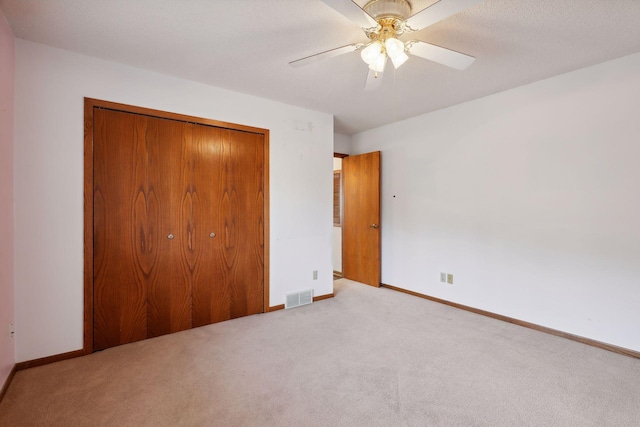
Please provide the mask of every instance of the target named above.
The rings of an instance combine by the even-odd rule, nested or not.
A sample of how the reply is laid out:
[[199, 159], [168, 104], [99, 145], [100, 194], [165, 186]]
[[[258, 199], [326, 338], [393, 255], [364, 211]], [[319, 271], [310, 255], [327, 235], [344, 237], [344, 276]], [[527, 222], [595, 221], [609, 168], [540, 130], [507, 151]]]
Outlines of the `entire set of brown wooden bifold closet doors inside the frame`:
[[264, 311], [264, 136], [93, 111], [93, 350]]

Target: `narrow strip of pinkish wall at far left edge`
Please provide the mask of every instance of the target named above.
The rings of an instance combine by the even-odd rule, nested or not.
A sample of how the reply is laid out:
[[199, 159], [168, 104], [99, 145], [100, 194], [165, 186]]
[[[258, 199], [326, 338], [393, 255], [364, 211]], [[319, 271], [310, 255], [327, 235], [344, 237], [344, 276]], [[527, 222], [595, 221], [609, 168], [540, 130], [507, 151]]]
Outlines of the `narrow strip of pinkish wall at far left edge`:
[[0, 11], [0, 388], [15, 363], [13, 280], [13, 77], [14, 37]]

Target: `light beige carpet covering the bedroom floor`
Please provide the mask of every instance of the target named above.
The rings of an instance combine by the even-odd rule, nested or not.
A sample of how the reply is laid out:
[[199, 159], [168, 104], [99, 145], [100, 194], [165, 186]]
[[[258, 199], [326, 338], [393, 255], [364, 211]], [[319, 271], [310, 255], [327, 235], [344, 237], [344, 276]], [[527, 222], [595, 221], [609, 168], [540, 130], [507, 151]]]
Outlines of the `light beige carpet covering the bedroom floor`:
[[640, 360], [341, 279], [16, 374], [2, 426], [638, 426]]

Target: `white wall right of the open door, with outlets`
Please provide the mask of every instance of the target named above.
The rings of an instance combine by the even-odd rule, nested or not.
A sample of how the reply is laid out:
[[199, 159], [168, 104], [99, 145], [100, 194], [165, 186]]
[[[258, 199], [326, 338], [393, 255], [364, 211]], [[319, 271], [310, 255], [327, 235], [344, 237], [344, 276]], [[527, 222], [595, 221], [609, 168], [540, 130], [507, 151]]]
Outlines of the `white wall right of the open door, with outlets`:
[[352, 136], [383, 282], [639, 351], [639, 112], [635, 54]]

